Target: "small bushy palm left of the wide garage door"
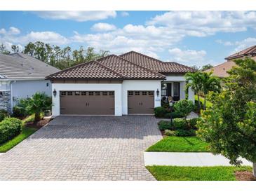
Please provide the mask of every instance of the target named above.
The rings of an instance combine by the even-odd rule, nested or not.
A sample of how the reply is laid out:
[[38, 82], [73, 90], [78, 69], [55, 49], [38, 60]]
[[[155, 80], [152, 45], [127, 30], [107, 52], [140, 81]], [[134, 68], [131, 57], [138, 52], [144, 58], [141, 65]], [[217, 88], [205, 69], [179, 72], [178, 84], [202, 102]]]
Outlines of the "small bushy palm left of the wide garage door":
[[50, 110], [52, 106], [51, 97], [44, 92], [36, 92], [31, 98], [20, 100], [20, 107], [28, 114], [34, 114], [34, 123], [41, 120], [41, 112]]

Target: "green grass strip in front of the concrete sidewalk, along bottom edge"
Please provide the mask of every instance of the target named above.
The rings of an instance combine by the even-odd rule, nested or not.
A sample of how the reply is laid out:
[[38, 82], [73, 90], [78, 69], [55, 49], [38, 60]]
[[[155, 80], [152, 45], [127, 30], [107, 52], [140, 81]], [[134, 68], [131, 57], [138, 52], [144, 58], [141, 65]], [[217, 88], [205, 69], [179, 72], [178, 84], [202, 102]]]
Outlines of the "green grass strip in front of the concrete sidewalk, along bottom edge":
[[178, 167], [146, 166], [159, 181], [236, 181], [236, 171], [251, 171], [250, 166]]

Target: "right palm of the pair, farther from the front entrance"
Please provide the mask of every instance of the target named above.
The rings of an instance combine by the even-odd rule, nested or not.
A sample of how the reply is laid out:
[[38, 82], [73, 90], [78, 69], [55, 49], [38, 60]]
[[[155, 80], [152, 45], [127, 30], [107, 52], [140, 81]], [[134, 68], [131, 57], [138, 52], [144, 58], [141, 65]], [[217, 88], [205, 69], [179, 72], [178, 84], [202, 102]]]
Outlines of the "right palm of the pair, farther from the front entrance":
[[201, 73], [201, 91], [203, 92], [204, 101], [203, 101], [203, 109], [206, 110], [206, 95], [208, 92], [220, 92], [220, 78], [212, 75], [213, 72], [210, 73]]

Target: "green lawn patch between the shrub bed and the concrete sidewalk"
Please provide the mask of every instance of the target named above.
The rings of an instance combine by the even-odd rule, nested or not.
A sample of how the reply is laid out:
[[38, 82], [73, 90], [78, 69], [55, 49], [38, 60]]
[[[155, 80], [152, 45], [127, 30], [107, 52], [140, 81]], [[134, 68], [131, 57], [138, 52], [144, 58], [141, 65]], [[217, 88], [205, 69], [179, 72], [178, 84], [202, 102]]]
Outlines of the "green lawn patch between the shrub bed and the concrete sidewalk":
[[147, 151], [154, 152], [208, 152], [208, 144], [198, 137], [164, 137]]

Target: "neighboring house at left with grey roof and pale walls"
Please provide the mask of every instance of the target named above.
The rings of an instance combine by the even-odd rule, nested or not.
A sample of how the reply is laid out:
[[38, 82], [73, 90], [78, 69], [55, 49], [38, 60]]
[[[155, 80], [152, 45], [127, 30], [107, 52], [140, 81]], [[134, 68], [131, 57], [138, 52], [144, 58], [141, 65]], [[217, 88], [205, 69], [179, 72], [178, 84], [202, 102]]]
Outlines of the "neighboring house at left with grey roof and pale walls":
[[11, 112], [20, 98], [37, 91], [51, 96], [51, 83], [45, 77], [58, 71], [29, 55], [0, 54], [0, 109]]

